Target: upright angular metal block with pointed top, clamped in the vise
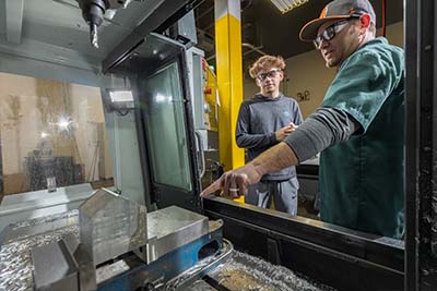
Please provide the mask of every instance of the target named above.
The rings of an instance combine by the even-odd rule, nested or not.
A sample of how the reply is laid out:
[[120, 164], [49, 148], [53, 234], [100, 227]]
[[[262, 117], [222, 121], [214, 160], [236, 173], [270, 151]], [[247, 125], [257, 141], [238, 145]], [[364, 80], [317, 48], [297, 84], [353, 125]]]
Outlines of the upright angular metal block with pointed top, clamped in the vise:
[[98, 265], [147, 243], [143, 205], [98, 190], [79, 208], [80, 242]]

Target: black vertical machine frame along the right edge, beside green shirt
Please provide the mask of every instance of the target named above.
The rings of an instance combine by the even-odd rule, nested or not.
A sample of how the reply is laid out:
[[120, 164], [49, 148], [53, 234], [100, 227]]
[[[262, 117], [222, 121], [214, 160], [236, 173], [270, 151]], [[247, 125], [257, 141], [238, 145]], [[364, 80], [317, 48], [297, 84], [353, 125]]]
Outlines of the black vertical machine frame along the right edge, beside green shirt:
[[437, 4], [405, 1], [405, 290], [437, 286]]

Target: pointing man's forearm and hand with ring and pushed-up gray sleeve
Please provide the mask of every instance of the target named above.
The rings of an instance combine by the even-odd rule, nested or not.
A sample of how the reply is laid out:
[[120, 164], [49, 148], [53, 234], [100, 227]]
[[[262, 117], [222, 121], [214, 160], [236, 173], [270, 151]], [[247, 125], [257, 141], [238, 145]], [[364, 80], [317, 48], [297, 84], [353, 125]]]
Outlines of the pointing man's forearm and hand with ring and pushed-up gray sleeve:
[[204, 197], [220, 189], [223, 189], [226, 196], [246, 195], [248, 186], [259, 182], [263, 174], [314, 157], [324, 148], [349, 140], [358, 129], [359, 123], [344, 111], [320, 108], [284, 142], [265, 150], [246, 166], [225, 172], [200, 195]]

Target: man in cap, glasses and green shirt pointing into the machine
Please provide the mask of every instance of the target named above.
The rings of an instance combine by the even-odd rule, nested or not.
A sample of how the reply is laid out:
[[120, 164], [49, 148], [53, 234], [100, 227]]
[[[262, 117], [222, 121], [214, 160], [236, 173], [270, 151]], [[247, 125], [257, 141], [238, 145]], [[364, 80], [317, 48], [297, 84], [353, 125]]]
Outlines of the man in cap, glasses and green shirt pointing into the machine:
[[402, 238], [404, 52], [375, 34], [368, 0], [334, 0], [307, 23], [300, 39], [314, 41], [328, 68], [339, 68], [322, 105], [287, 138], [224, 173], [201, 196], [221, 187], [224, 195], [245, 195], [264, 173], [321, 151], [321, 219]]

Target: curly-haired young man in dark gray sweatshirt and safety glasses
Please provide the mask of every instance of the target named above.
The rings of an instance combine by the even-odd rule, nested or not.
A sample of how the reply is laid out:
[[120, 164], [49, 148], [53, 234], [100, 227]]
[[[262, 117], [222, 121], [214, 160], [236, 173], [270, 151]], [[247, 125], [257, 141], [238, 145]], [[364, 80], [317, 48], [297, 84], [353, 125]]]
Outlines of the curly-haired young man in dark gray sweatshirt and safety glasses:
[[[264, 56], [249, 70], [260, 92], [245, 100], [238, 113], [236, 141], [247, 149], [246, 162], [282, 142], [303, 122], [296, 100], [280, 92], [284, 69], [281, 57]], [[245, 201], [269, 208], [273, 199], [276, 210], [296, 215], [298, 186], [292, 166], [262, 175], [261, 181], [249, 187]]]

